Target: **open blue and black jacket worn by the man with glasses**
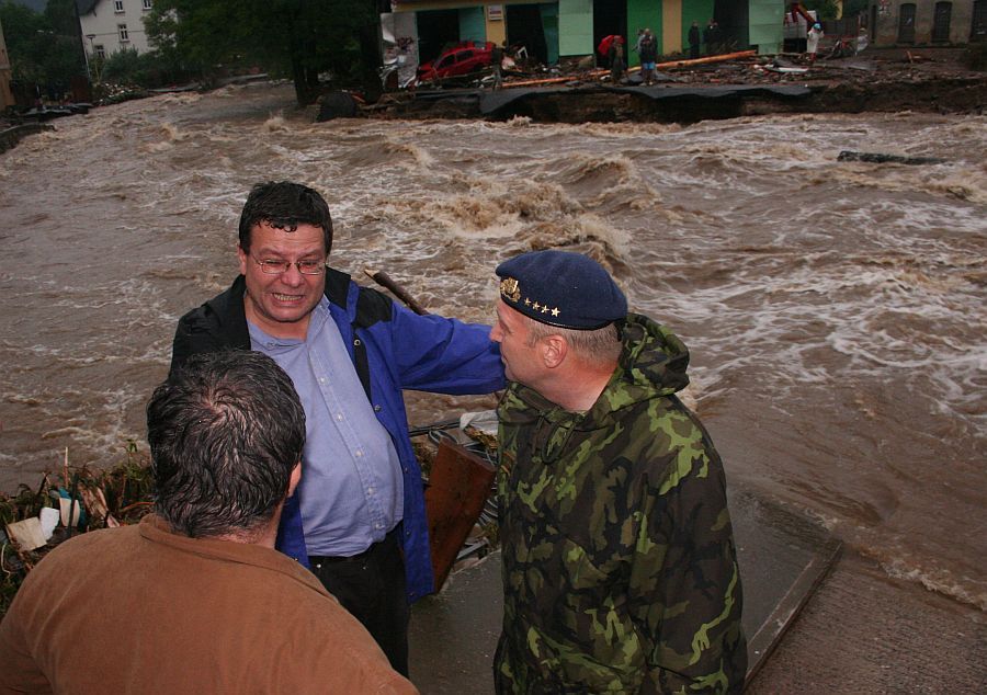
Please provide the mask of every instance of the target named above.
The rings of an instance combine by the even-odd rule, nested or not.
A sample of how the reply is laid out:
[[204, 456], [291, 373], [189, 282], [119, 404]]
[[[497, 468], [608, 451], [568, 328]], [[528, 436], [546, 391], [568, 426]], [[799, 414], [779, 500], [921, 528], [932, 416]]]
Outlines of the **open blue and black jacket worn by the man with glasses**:
[[[193, 354], [250, 350], [242, 275], [223, 294], [179, 320], [171, 369]], [[434, 591], [421, 468], [408, 436], [404, 389], [439, 394], [489, 394], [503, 388], [499, 345], [489, 327], [440, 316], [419, 316], [387, 295], [361, 287], [327, 269], [329, 310], [381, 424], [390, 433], [401, 463], [405, 509], [401, 540], [409, 602]], [[308, 566], [297, 499], [285, 503], [277, 548]]]

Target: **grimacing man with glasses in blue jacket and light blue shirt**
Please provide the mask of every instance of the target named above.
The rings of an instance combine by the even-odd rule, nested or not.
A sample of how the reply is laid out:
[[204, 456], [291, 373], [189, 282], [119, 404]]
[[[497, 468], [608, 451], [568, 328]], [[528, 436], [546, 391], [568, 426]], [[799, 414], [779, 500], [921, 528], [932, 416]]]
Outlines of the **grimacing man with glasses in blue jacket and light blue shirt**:
[[332, 220], [318, 192], [258, 184], [240, 215], [232, 286], [181, 318], [172, 371], [192, 354], [257, 350], [305, 407], [303, 479], [277, 547], [309, 566], [408, 674], [408, 606], [433, 577], [421, 471], [402, 389], [503, 386], [489, 327], [418, 316], [328, 267]]

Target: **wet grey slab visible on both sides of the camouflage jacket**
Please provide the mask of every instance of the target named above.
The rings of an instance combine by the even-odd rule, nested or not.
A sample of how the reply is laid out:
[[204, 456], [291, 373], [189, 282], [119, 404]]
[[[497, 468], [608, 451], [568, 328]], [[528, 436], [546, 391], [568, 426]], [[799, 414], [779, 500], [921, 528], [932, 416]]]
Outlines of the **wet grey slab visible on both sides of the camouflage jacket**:
[[[839, 543], [742, 490], [729, 498], [744, 579], [750, 672], [765, 662], [837, 558]], [[455, 572], [411, 614], [411, 680], [424, 695], [494, 692], [501, 620], [500, 551]], [[767, 691], [765, 691], [767, 692]]]

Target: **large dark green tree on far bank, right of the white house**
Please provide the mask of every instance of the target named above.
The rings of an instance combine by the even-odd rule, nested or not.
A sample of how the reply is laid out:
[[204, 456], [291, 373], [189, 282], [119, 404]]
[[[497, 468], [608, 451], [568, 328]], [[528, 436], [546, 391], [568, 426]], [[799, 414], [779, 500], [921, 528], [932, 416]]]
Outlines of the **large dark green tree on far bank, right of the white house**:
[[145, 20], [162, 52], [206, 68], [258, 66], [291, 77], [310, 103], [334, 87], [377, 82], [376, 0], [156, 0]]

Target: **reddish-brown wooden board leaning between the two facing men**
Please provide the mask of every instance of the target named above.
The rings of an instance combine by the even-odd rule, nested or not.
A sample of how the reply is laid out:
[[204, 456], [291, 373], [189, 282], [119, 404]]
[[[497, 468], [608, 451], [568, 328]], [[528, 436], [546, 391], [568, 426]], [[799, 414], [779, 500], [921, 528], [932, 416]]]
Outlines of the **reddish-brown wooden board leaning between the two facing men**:
[[463, 446], [443, 440], [426, 489], [426, 514], [435, 591], [442, 589], [456, 556], [494, 485], [494, 466]]

